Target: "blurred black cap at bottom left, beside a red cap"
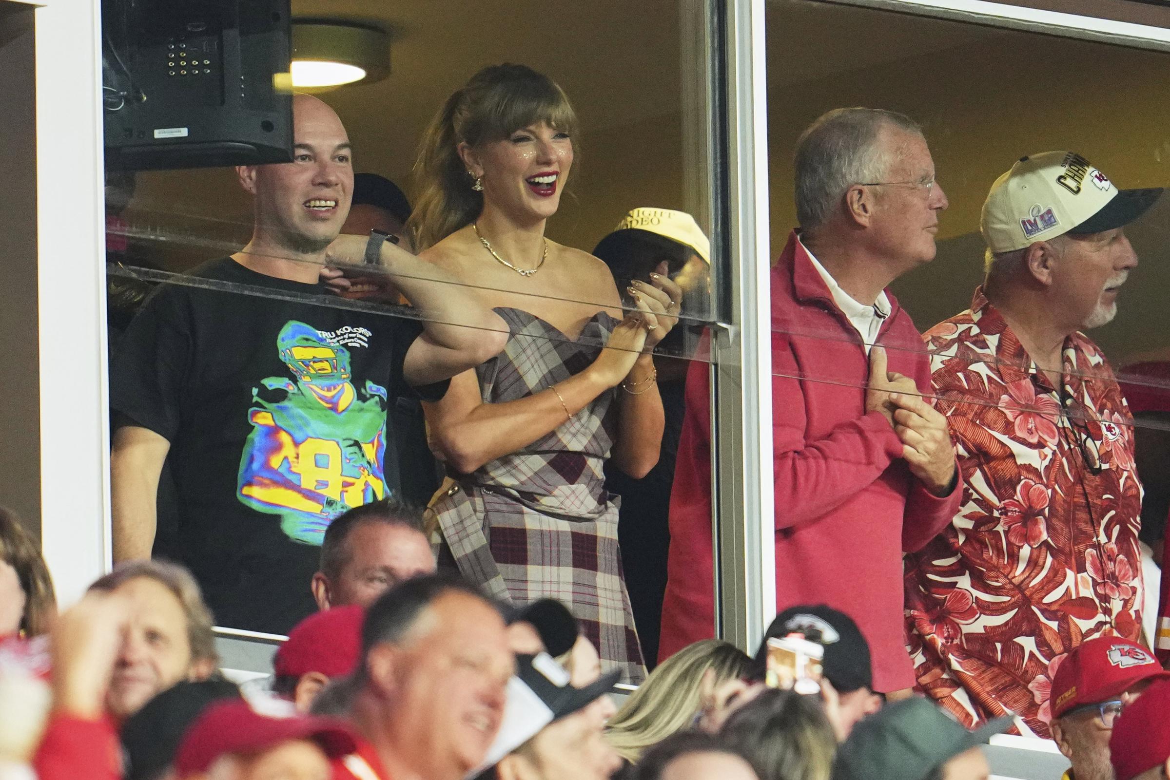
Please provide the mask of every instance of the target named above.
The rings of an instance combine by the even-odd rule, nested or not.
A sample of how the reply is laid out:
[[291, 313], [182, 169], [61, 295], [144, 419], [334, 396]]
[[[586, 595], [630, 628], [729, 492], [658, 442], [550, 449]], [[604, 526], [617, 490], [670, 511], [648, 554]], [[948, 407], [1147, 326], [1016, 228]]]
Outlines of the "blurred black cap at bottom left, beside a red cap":
[[180, 682], [166, 689], [122, 725], [126, 780], [156, 780], [174, 761], [183, 734], [211, 704], [240, 698], [226, 679]]

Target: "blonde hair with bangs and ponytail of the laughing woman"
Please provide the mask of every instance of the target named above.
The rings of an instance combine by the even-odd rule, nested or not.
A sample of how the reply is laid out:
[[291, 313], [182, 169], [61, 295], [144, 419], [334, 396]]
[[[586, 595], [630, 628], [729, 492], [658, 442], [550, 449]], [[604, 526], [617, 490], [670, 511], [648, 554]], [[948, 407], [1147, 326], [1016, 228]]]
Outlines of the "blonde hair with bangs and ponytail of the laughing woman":
[[[564, 90], [526, 65], [484, 68], [447, 98], [424, 132], [414, 164], [420, 192], [407, 227], [420, 251], [470, 225], [483, 210], [483, 193], [472, 189], [459, 145], [503, 140], [542, 122], [570, 138], [577, 132], [577, 115]], [[573, 151], [579, 152], [576, 140]]]

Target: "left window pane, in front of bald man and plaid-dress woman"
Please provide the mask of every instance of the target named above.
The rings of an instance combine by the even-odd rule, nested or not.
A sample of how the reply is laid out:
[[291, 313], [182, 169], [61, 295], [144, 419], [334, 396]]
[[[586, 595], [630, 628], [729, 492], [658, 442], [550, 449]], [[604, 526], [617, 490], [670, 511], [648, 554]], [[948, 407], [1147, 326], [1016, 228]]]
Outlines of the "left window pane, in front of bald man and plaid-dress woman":
[[[319, 13], [301, 2], [292, 11]], [[721, 299], [717, 269], [725, 261], [710, 248], [722, 243], [713, 230], [720, 209], [711, 205], [708, 9], [679, 4], [631, 16], [617, 2], [566, 7], [557, 13], [556, 46], [543, 25], [517, 26], [518, 19], [548, 19], [536, 2], [508, 15], [472, 5], [443, 23], [421, 6], [355, 0], [337, 13], [340, 22], [377, 20], [393, 30], [385, 78], [315, 92], [329, 110], [294, 101], [325, 125], [336, 111], [344, 138], [335, 138], [332, 125], [310, 132], [294, 123], [294, 141], [308, 145], [284, 165], [108, 171], [113, 424], [122, 434], [115, 437], [116, 518], [138, 511], [119, 508], [119, 447], [131, 447], [128, 430], [145, 429], [147, 442], [167, 453], [158, 502], [146, 502], [158, 511], [154, 554], [195, 570], [222, 623], [281, 634], [315, 607], [308, 586], [333, 518], [386, 496], [434, 504], [428, 523], [438, 524], [434, 539], [442, 540], [440, 565], [467, 572], [475, 555], [488, 555], [501, 575], [482, 585], [497, 595], [574, 600], [608, 588], [605, 607], [574, 606], [606, 665], [639, 679], [634, 619], [654, 656], [684, 378], [694, 360], [709, 360], [696, 351], [703, 329], [722, 313], [713, 303]], [[128, 70], [160, 40], [161, 54], [172, 53], [170, 33], [159, 37], [158, 29], [174, 20], [156, 21], [113, 36], [124, 41], [117, 46]], [[200, 32], [211, 35], [213, 27]], [[146, 35], [147, 28], [154, 32]], [[176, 46], [188, 47], [174, 56], [194, 46], [188, 29], [173, 35]], [[404, 195], [414, 206], [426, 202], [428, 185], [439, 180], [419, 164], [427, 127], [448, 96], [502, 62], [541, 74], [511, 71], [501, 82], [517, 95], [536, 90], [536, 108], [521, 111], [523, 123], [498, 137], [468, 136], [474, 143], [462, 158], [454, 157], [463, 140], [454, 133], [441, 145], [461, 168], [448, 195], [490, 210], [483, 207], [474, 229], [473, 219], [447, 225], [435, 239], [462, 233], [446, 248], [415, 246], [427, 249], [429, 264], [393, 261], [392, 288], [380, 271], [345, 270], [344, 278], [376, 288], [376, 296], [338, 297], [317, 284], [314, 263], [324, 244], [307, 236], [331, 237], [346, 216], [349, 187], [364, 193], [364, 202], [350, 210], [345, 233], [366, 235], [377, 216], [401, 236], [400, 246], [414, 243], [413, 223], [402, 226], [410, 209], [397, 214], [395, 206]], [[569, 124], [560, 103], [545, 99], [544, 76], [576, 111], [570, 138], [562, 134], [570, 127], [543, 122]], [[187, 83], [176, 81], [173, 89]], [[133, 111], [135, 92], [125, 91], [131, 103], [117, 110]], [[483, 101], [467, 105], [482, 113]], [[335, 153], [344, 139], [352, 144], [342, 150], [346, 159]], [[312, 170], [297, 173], [305, 168]], [[352, 174], [384, 177], [402, 194], [379, 201], [390, 187], [363, 177], [349, 185]], [[482, 191], [473, 189], [476, 178]], [[522, 240], [545, 218], [546, 243]], [[360, 267], [364, 246], [353, 239], [342, 257]], [[397, 257], [393, 251], [383, 256]], [[446, 276], [426, 284], [419, 276], [432, 268]], [[669, 277], [658, 285], [662, 291], [652, 272]], [[642, 287], [632, 295], [626, 288], [635, 279]], [[654, 327], [648, 317], [640, 318], [645, 325], [619, 325], [636, 316], [639, 297], [651, 299], [652, 315], [654, 306], [673, 306], [669, 316]], [[617, 327], [628, 332], [625, 341], [610, 336]], [[480, 363], [477, 373], [459, 372], [443, 395], [431, 385], [455, 372], [431, 371], [433, 361], [407, 353], [422, 329], [432, 357], [446, 354], [436, 341], [448, 351], [456, 341], [468, 350], [509, 346], [487, 364], [468, 364]], [[498, 336], [505, 331], [507, 339]], [[638, 358], [646, 344], [653, 345], [649, 360]], [[601, 366], [599, 354], [604, 371], [581, 381], [586, 368]], [[412, 392], [412, 384], [420, 389]], [[428, 402], [420, 406], [419, 394]], [[462, 407], [449, 401], [455, 394], [467, 400]], [[507, 413], [497, 412], [508, 403]], [[614, 585], [617, 495], [625, 497], [621, 517], [634, 518], [620, 524], [622, 545], [636, 553], [626, 565], [633, 615]], [[535, 558], [501, 552], [503, 543], [456, 547], [456, 523], [486, 525], [489, 533], [481, 527], [480, 536], [493, 540], [519, 533], [539, 541], [555, 568], [584, 572], [570, 573], [584, 578], [583, 587], [563, 588]], [[542, 523], [551, 534], [543, 540]], [[576, 532], [597, 537], [600, 560], [574, 552]], [[139, 553], [152, 541], [133, 541], [117, 519], [115, 538], [138, 544]], [[329, 599], [316, 594], [317, 602]]]

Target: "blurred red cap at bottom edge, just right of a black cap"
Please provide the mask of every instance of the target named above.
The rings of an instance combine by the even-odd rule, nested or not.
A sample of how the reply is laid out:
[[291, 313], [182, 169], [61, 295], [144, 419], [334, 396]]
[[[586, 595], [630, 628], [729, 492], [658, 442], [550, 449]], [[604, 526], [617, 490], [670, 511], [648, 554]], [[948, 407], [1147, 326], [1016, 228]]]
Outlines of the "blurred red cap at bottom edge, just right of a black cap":
[[178, 775], [206, 772], [221, 755], [254, 755], [298, 739], [317, 743], [330, 759], [357, 750], [353, 736], [339, 720], [297, 715], [287, 702], [275, 699], [266, 703], [268, 715], [253, 706], [245, 699], [232, 699], [207, 707], [183, 737], [174, 757]]

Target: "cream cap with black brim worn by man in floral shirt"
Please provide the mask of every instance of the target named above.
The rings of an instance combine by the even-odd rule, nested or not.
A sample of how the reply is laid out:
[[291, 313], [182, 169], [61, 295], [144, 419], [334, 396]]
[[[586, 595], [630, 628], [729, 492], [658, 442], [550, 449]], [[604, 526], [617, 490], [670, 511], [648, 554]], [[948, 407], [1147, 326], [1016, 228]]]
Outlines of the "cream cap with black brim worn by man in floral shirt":
[[1161, 187], [1117, 189], [1076, 152], [1030, 154], [991, 185], [979, 232], [992, 253], [1013, 251], [1066, 233], [1120, 228], [1161, 194]]

